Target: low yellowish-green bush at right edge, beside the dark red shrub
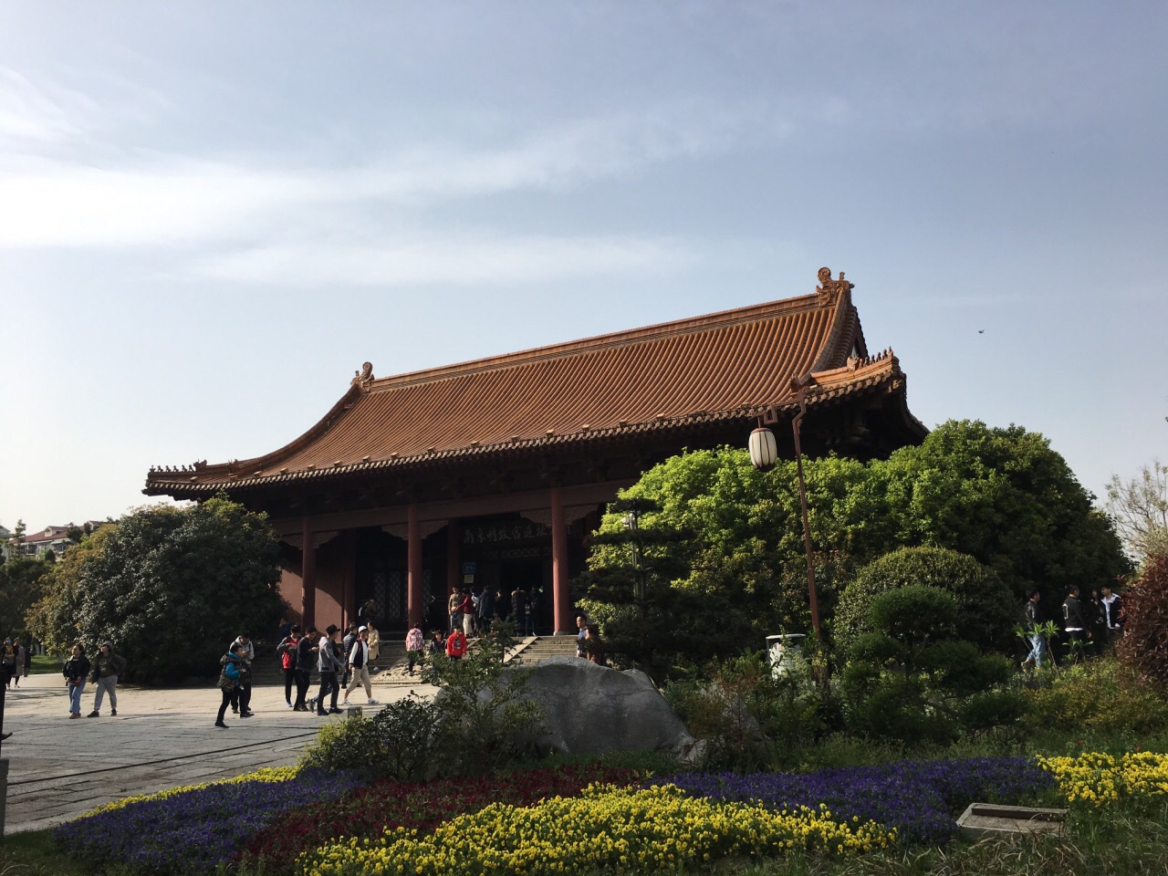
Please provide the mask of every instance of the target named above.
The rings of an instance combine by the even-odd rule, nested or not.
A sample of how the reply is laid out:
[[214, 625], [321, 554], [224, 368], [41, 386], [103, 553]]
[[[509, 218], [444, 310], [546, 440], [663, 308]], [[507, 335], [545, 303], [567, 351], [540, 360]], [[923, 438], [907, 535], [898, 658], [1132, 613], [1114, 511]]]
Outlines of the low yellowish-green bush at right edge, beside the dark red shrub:
[[1087, 660], [1059, 673], [1042, 672], [1022, 688], [1023, 726], [1033, 734], [1125, 735], [1168, 729], [1168, 698], [1141, 683], [1114, 658]]

